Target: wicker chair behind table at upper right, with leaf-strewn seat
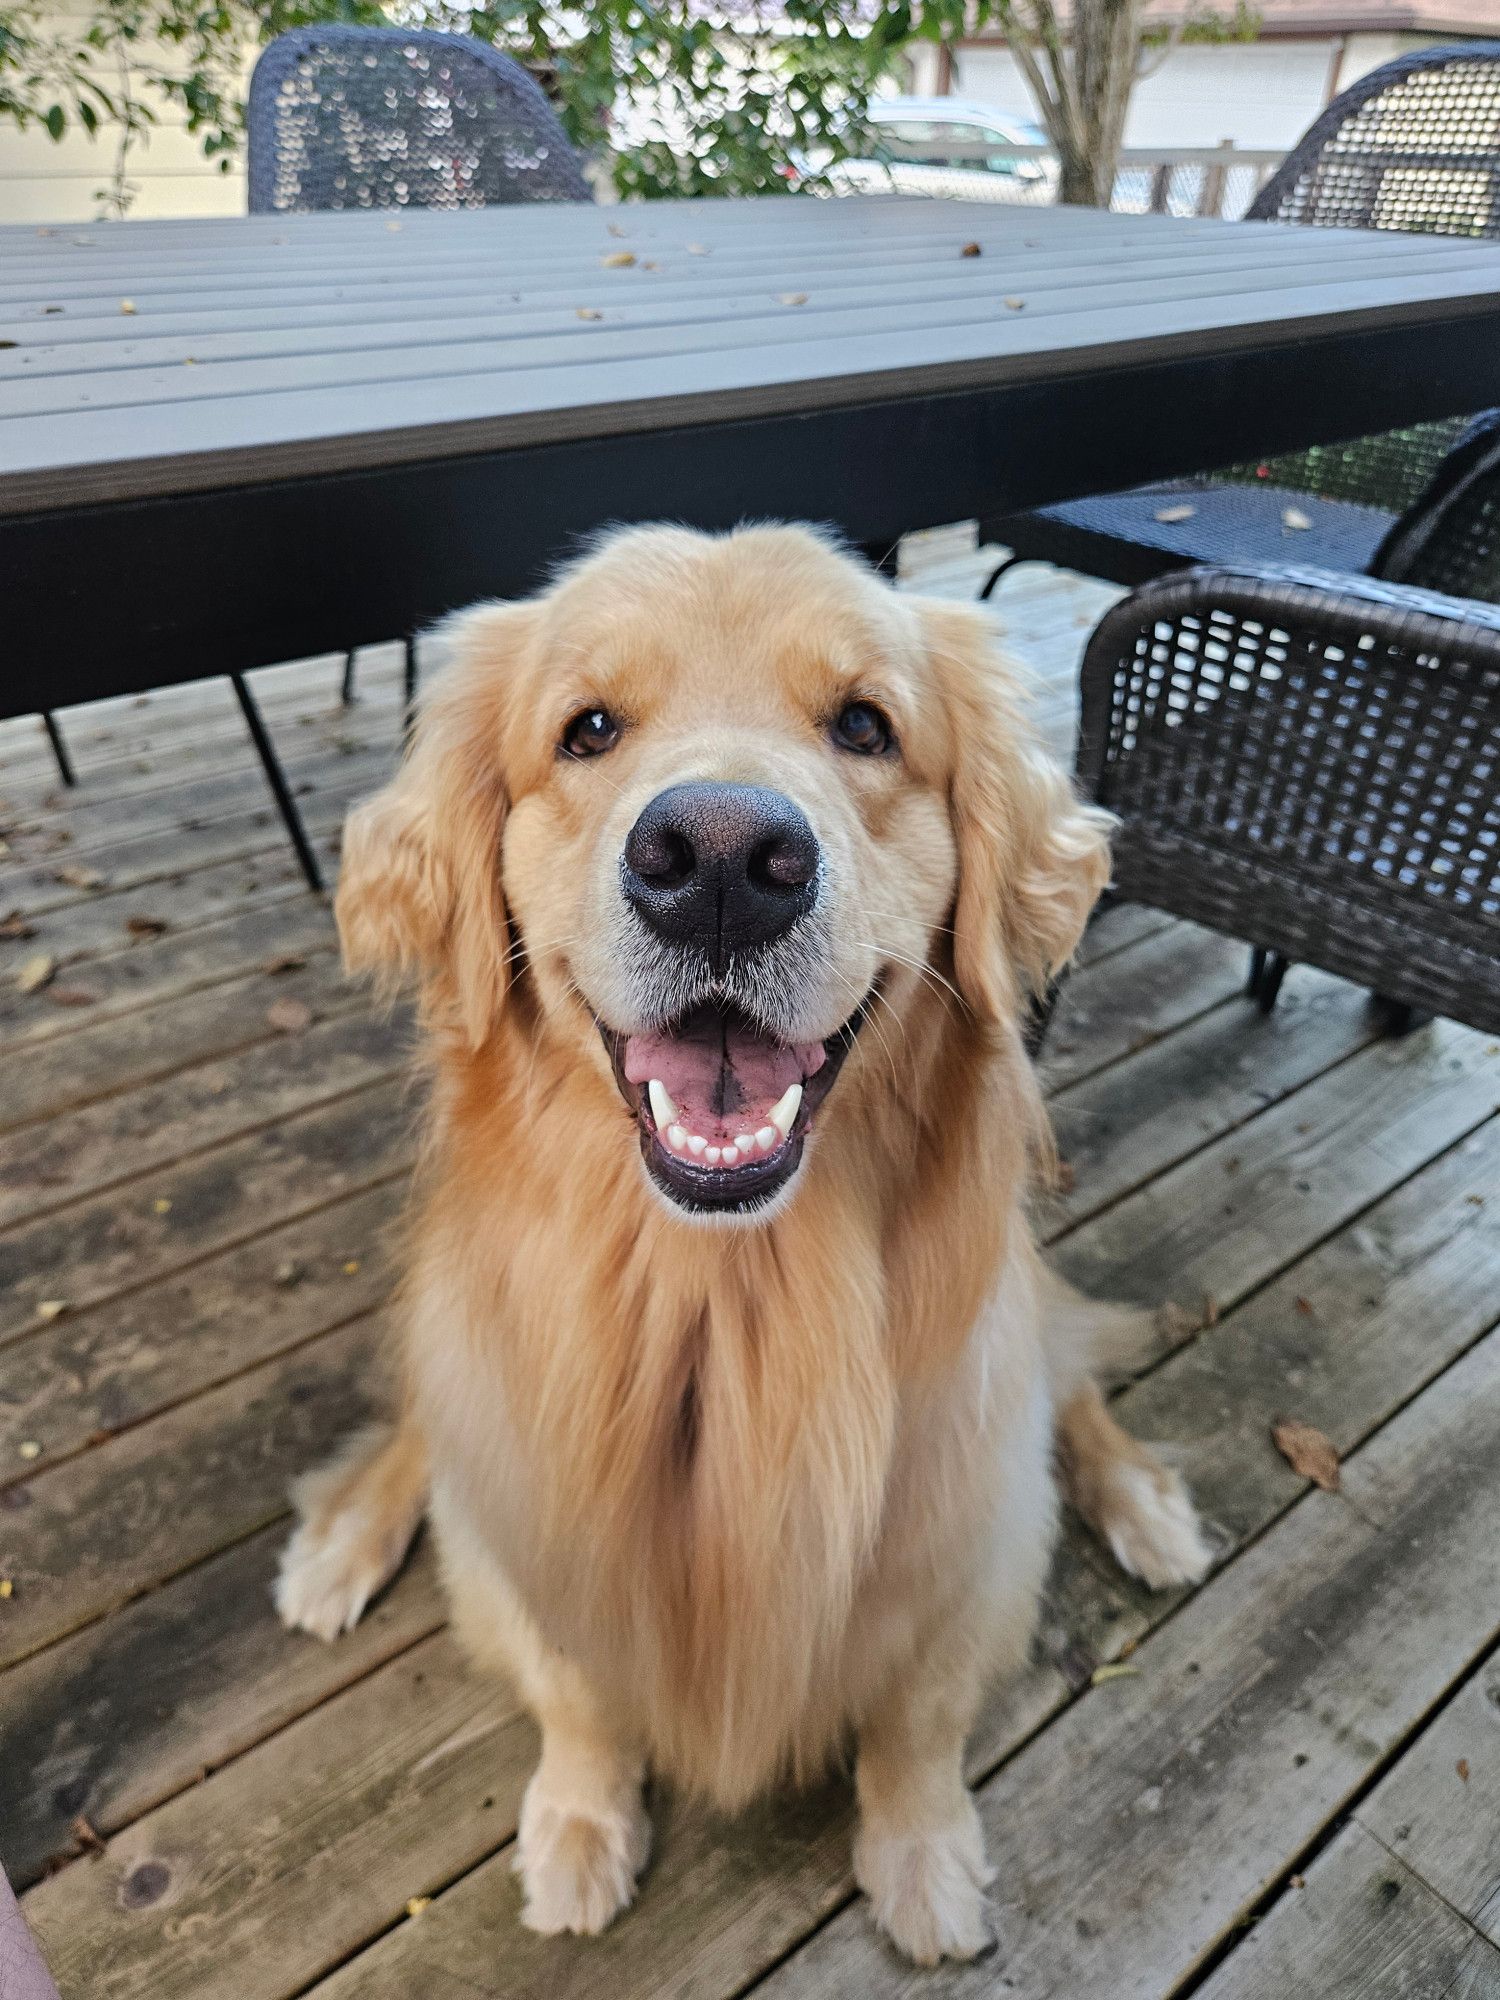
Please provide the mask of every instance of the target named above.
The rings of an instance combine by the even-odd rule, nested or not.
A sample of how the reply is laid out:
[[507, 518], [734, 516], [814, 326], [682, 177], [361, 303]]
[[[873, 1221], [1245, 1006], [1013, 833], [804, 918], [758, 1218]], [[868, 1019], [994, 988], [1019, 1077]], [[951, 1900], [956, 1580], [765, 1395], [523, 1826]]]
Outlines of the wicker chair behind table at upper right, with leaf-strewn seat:
[[[1246, 220], [1500, 236], [1496, 130], [1500, 42], [1400, 56], [1334, 98]], [[1192, 562], [1306, 560], [1364, 570], [1462, 422], [994, 516], [980, 524], [980, 542], [1000, 542], [1010, 556], [980, 596], [988, 598], [1016, 562], [1058, 562], [1116, 584], [1142, 584]], [[1308, 526], [1288, 526], [1288, 512]]]

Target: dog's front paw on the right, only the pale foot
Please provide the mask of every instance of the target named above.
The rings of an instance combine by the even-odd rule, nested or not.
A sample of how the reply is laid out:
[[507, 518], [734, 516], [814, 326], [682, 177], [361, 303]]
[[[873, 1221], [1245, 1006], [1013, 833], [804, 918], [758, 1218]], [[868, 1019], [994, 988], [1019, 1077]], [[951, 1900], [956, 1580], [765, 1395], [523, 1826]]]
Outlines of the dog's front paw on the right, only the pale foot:
[[994, 1944], [986, 1884], [984, 1832], [974, 1802], [934, 1828], [860, 1826], [854, 1878], [870, 1912], [896, 1950], [918, 1966], [942, 1958], [978, 1958]]

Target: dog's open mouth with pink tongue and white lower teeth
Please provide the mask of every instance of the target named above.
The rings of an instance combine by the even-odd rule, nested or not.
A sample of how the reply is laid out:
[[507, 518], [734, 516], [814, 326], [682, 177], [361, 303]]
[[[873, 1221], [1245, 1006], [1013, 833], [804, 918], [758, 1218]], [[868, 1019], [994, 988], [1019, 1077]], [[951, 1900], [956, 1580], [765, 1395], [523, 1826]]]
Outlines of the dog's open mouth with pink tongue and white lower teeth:
[[778, 1042], [734, 1006], [708, 1002], [642, 1034], [604, 1032], [652, 1180], [682, 1208], [750, 1210], [802, 1160], [870, 998], [826, 1042]]

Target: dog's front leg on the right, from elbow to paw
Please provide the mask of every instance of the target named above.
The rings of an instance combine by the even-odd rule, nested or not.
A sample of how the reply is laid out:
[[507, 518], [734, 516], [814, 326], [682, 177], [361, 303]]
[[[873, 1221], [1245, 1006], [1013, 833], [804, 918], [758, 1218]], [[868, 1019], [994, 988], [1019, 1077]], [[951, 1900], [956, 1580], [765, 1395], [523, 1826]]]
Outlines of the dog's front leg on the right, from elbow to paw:
[[876, 1924], [908, 1958], [974, 1958], [990, 1942], [984, 1832], [964, 1784], [978, 1708], [972, 1642], [952, 1626], [866, 1716], [854, 1784], [854, 1876]]

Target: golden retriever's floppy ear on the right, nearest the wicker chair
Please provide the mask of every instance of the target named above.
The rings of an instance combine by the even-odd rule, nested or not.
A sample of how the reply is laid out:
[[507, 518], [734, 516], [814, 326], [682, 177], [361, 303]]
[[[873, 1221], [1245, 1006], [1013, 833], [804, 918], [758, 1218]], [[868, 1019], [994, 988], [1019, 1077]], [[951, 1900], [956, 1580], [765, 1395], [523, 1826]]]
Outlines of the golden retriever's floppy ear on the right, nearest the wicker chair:
[[926, 602], [920, 618], [952, 732], [954, 970], [998, 1022], [1072, 958], [1110, 878], [1112, 822], [1042, 748], [986, 614]]

